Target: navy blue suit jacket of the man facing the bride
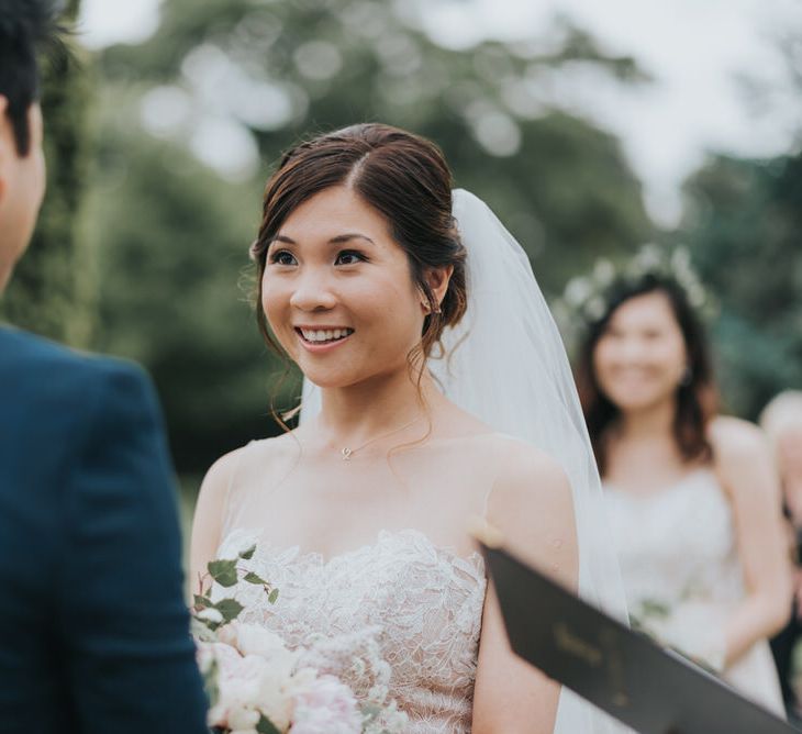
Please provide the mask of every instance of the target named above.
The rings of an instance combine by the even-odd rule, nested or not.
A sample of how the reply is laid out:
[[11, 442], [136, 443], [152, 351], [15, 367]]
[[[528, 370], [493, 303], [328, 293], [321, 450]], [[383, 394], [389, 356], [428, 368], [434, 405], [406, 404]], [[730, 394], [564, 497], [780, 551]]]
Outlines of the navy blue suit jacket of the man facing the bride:
[[171, 476], [141, 369], [0, 329], [0, 731], [208, 732]]

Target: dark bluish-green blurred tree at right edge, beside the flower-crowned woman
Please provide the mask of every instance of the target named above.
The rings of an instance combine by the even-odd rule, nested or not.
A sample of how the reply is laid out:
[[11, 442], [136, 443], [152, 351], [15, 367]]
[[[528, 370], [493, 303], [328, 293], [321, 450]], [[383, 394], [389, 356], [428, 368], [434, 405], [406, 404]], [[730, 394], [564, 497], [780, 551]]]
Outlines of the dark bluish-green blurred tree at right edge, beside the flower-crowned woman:
[[712, 156], [684, 193], [679, 234], [721, 301], [724, 403], [754, 419], [776, 392], [802, 388], [802, 154]]

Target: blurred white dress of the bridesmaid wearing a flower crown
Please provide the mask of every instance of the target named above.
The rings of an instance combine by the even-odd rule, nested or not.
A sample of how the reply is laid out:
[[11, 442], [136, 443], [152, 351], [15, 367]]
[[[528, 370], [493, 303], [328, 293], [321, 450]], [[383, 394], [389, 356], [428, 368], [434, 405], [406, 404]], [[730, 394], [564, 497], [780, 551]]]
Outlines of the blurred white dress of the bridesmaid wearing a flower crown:
[[[745, 589], [729, 502], [715, 474], [693, 471], [654, 494], [610, 483], [604, 489], [634, 621], [692, 657], [720, 657], [724, 621]], [[767, 641], [756, 643], [723, 678], [784, 716]]]

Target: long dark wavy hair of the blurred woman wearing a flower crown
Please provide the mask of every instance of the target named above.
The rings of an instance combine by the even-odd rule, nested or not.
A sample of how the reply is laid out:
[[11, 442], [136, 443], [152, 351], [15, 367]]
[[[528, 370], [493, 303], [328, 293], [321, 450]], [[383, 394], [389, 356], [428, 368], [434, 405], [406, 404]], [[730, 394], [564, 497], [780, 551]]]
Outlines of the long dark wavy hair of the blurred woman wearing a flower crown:
[[676, 393], [673, 437], [677, 447], [688, 463], [710, 461], [713, 458], [706, 427], [717, 411], [719, 397], [704, 327], [688, 302], [684, 290], [673, 278], [647, 273], [636, 279], [619, 278], [610, 286], [604, 298], [606, 308], [600, 318], [587, 324], [579, 348], [577, 389], [601, 475], [604, 475], [606, 466], [608, 430], [615, 423], [621, 411], [599, 386], [593, 369], [593, 353], [615, 311], [633, 298], [654, 292], [664, 293], [668, 299], [688, 354], [689, 369]]

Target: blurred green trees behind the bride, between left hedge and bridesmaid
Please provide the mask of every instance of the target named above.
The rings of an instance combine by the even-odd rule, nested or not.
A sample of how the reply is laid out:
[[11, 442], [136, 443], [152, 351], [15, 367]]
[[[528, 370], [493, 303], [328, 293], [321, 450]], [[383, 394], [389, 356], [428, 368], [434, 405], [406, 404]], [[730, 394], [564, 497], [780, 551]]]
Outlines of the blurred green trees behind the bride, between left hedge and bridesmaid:
[[[497, 210], [550, 292], [600, 253], [631, 252], [651, 234], [617, 141], [538, 98], [544, 78], [554, 84], [571, 64], [644, 81], [631, 58], [559, 23], [548, 44], [447, 49], [412, 7], [166, 0], [147, 42], [100, 57], [87, 218], [101, 254], [98, 346], [154, 374], [179, 469], [275, 432], [270, 396], [288, 408], [298, 394], [297, 379], [277, 388], [283, 367], [238, 285], [264, 180], [304, 135], [379, 120], [432, 137], [456, 185]], [[202, 134], [209, 123], [245, 134], [255, 173], [232, 182], [198, 162], [221, 155], [221, 138]]]

